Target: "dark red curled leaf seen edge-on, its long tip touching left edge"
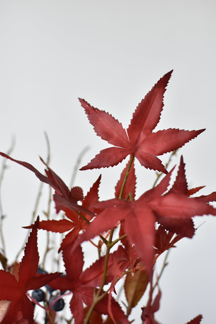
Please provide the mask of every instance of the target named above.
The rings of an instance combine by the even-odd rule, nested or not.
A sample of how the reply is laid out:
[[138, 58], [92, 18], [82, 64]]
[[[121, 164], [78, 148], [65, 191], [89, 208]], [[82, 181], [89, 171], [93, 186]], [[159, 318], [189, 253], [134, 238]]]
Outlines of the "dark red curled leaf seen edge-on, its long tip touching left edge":
[[60, 210], [63, 210], [63, 208], [68, 208], [70, 210], [74, 210], [74, 211], [78, 210], [88, 215], [95, 216], [95, 214], [91, 212], [89, 209], [87, 209], [85, 206], [80, 206], [77, 204], [78, 201], [84, 199], [82, 188], [74, 187], [71, 188], [71, 190], [69, 190], [69, 188], [63, 182], [63, 180], [51, 168], [49, 168], [46, 165], [46, 163], [43, 161], [41, 157], [40, 160], [48, 168], [48, 170], [45, 169], [47, 177], [44, 176], [42, 173], [40, 173], [30, 163], [15, 160], [3, 152], [0, 152], [0, 155], [33, 171], [36, 177], [40, 179], [40, 181], [48, 183], [55, 190], [55, 193], [53, 195], [53, 200], [55, 202], [55, 208], [57, 214], [59, 213]]

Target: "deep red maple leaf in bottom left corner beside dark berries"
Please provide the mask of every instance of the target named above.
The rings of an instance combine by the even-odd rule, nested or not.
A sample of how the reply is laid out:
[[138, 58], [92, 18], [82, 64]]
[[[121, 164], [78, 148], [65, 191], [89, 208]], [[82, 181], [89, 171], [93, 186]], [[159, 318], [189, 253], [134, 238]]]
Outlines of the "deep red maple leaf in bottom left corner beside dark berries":
[[24, 250], [25, 254], [19, 265], [18, 281], [10, 272], [0, 270], [0, 300], [11, 301], [1, 324], [14, 323], [20, 311], [22, 312], [23, 318], [28, 320], [29, 324], [33, 324], [34, 308], [26, 296], [26, 292], [32, 289], [39, 289], [61, 274], [58, 272], [41, 275], [36, 274], [39, 262], [37, 247], [38, 224], [39, 217], [28, 237], [28, 242]]

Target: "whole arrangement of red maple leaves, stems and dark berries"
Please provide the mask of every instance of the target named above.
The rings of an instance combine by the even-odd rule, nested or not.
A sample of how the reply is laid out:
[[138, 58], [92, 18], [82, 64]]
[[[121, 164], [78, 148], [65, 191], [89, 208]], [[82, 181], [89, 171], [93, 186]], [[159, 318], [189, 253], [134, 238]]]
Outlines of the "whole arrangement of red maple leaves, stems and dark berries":
[[[65, 319], [68, 324], [129, 324], [133, 322], [130, 317], [131, 310], [136, 307], [145, 292], [149, 294], [149, 298], [147, 304], [142, 307], [140, 323], [158, 323], [154, 313], [159, 309], [161, 298], [158, 285], [161, 274], [156, 280], [153, 275], [157, 258], [164, 252], [167, 253], [183, 237], [193, 237], [195, 228], [192, 217], [216, 215], [216, 209], [209, 204], [216, 201], [216, 192], [196, 198], [190, 197], [203, 187], [188, 189], [182, 156], [176, 179], [170, 189], [170, 178], [175, 167], [168, 172], [167, 166], [165, 168], [157, 157], [167, 152], [175, 153], [178, 148], [204, 131], [169, 128], [153, 132], [160, 120], [163, 96], [171, 73], [172, 71], [165, 74], [138, 104], [127, 131], [107, 112], [90, 106], [84, 99], [79, 99], [97, 135], [113, 145], [100, 151], [80, 170], [113, 167], [130, 155], [130, 160], [115, 187], [114, 199], [99, 201], [101, 176], [84, 197], [80, 187], [69, 189], [42, 159], [47, 167], [46, 176], [31, 164], [0, 152], [1, 156], [28, 168], [40, 181], [49, 184], [55, 191], [53, 200], [56, 213], [61, 210], [65, 213], [65, 217], [60, 220], [40, 221], [38, 216], [33, 225], [26, 227], [32, 228], [32, 231], [26, 243], [24, 256], [19, 264], [15, 263], [16, 266], [11, 267], [7, 264], [2, 249], [1, 324], [36, 324], [36, 305], [44, 310], [45, 324], [58, 323], [56, 313], [63, 310], [65, 295], [71, 295], [72, 318]], [[137, 158], [144, 168], [160, 172], [153, 188], [144, 192], [138, 199], [135, 199], [134, 158]], [[159, 182], [162, 174], [165, 176]], [[38, 229], [68, 232], [58, 251], [62, 253], [65, 273], [47, 273], [39, 265]], [[114, 238], [114, 233], [117, 238]], [[92, 241], [94, 237], [98, 238], [97, 244]], [[85, 271], [82, 251], [84, 241], [89, 241], [92, 248], [96, 247], [98, 250], [98, 259]], [[102, 246], [106, 246], [104, 255]], [[114, 246], [116, 249], [112, 251]], [[165, 265], [166, 263], [164, 267]], [[115, 294], [118, 293], [115, 286], [119, 280], [124, 281], [127, 305], [120, 306], [115, 300]], [[149, 290], [146, 290], [147, 286]], [[31, 295], [29, 290], [33, 290]], [[101, 316], [102, 314], [107, 317]], [[199, 324], [201, 319], [202, 316], [198, 315], [188, 324]]]

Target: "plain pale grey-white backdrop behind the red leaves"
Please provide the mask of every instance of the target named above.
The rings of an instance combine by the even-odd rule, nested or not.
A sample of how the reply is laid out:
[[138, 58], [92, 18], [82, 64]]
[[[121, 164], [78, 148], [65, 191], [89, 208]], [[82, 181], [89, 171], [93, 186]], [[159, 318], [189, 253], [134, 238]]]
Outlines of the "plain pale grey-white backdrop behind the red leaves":
[[[141, 99], [174, 69], [156, 130], [206, 131], [179, 150], [168, 170], [179, 164], [182, 154], [188, 187], [206, 185], [200, 195], [216, 191], [215, 9], [214, 0], [1, 0], [0, 151], [6, 152], [15, 136], [11, 155], [43, 172], [39, 155], [46, 159], [46, 131], [50, 167], [69, 186], [85, 146], [90, 149], [80, 167], [110, 146], [96, 136], [77, 98], [108, 111], [127, 128]], [[168, 157], [160, 158], [165, 163]], [[74, 185], [86, 194], [101, 173], [100, 200], [113, 198], [125, 163], [78, 171]], [[138, 161], [135, 165], [139, 197], [152, 187], [155, 172]], [[40, 181], [16, 163], [8, 161], [7, 166], [1, 201], [6, 254], [12, 263], [25, 239], [27, 230], [21, 226], [30, 223]], [[41, 219], [48, 194], [44, 185], [37, 212]], [[55, 217], [53, 206], [51, 213]], [[156, 313], [161, 323], [184, 324], [200, 313], [203, 324], [216, 320], [216, 219], [196, 217], [195, 224], [204, 220], [195, 237], [182, 239], [169, 255]], [[46, 233], [39, 231], [41, 254], [45, 245]], [[135, 323], [140, 323], [143, 305], [141, 301], [130, 317]]]

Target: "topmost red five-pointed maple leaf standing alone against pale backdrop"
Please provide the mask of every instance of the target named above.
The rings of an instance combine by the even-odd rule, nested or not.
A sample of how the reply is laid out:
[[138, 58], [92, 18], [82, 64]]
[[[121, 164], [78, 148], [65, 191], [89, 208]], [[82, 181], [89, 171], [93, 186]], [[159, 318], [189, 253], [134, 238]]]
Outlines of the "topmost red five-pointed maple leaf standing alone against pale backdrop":
[[156, 133], [152, 132], [160, 120], [164, 106], [165, 87], [171, 73], [172, 71], [165, 74], [138, 104], [127, 133], [122, 124], [112, 115], [90, 106], [84, 99], [79, 98], [97, 135], [109, 144], [116, 146], [100, 151], [91, 162], [80, 170], [113, 167], [131, 154], [139, 160], [143, 167], [167, 173], [157, 156], [175, 151], [205, 130], [185, 131], [169, 128]]

